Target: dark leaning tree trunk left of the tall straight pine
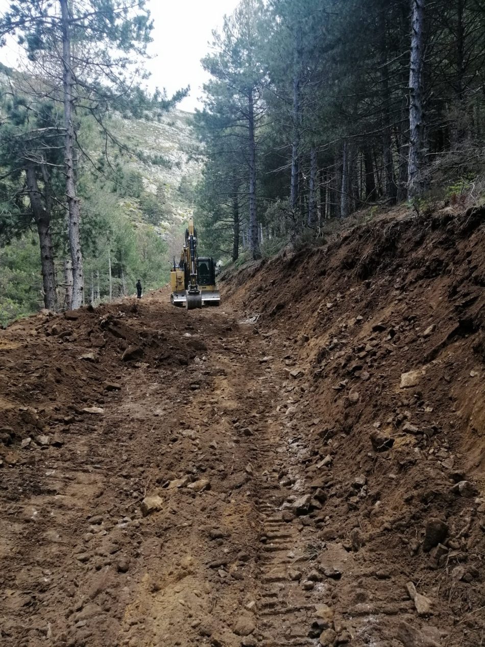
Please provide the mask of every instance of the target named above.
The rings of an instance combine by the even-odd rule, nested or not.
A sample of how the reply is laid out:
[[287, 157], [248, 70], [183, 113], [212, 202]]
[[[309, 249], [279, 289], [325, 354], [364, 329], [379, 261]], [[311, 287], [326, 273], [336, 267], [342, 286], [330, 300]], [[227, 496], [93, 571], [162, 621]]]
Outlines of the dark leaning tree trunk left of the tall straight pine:
[[30, 206], [32, 207], [32, 214], [34, 215], [34, 221], [36, 221], [39, 234], [44, 305], [48, 310], [56, 312], [58, 298], [56, 291], [56, 268], [54, 267], [54, 248], [52, 247], [52, 237], [50, 235], [50, 212], [42, 204], [36, 170], [33, 164], [27, 166], [25, 175]]

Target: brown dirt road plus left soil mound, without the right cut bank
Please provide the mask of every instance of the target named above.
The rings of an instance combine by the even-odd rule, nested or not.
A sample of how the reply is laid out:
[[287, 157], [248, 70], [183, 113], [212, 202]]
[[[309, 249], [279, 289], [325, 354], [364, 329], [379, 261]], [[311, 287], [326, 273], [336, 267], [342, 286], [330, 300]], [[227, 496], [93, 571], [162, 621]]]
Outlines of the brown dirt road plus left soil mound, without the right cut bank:
[[451, 645], [402, 504], [350, 523], [297, 335], [166, 294], [70, 316], [1, 333], [2, 646]]

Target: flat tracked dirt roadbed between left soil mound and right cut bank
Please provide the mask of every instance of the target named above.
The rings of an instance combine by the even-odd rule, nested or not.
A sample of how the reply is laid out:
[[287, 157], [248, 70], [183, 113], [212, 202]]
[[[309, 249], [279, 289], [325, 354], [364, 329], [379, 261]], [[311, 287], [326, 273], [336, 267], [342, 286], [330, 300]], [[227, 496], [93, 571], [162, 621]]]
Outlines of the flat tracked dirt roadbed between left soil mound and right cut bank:
[[152, 300], [137, 317], [195, 357], [113, 366], [113, 390], [85, 402], [98, 413], [78, 408], [51, 428], [58, 446], [37, 437], [5, 466], [2, 644], [316, 644], [323, 544], [283, 521], [301, 475], [279, 344], [222, 309], [188, 317]]

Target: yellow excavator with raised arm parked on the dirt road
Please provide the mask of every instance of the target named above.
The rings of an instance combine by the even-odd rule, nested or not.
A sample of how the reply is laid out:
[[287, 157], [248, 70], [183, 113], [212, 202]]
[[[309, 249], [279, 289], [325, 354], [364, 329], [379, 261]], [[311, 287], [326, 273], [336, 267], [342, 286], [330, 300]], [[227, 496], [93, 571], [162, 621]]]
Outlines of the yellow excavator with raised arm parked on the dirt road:
[[172, 293], [170, 301], [178, 307], [188, 310], [201, 308], [202, 305], [219, 305], [221, 296], [215, 285], [215, 262], [209, 256], [197, 256], [197, 232], [193, 218], [185, 231], [185, 243], [180, 261], [170, 270]]

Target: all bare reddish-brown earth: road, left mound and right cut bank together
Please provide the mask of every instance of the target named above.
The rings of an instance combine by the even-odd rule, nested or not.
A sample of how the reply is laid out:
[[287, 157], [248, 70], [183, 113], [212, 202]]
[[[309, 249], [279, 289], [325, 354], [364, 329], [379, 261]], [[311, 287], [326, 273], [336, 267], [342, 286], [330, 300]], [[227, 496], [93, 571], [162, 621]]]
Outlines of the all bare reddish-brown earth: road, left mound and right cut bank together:
[[483, 223], [1, 331], [0, 644], [482, 644]]

